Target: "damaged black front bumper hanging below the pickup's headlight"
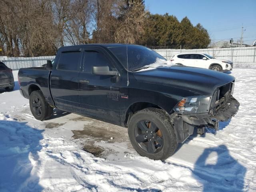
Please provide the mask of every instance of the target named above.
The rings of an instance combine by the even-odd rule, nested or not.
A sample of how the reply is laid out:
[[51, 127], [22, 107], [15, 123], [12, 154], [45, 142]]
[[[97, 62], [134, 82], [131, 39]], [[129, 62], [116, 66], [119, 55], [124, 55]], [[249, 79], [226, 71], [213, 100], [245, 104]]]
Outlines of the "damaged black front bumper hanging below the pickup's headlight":
[[174, 129], [178, 138], [178, 142], [184, 142], [190, 135], [193, 134], [194, 128], [214, 128], [218, 129], [219, 121], [227, 121], [239, 109], [239, 102], [233, 97], [230, 97], [230, 103], [226, 104], [215, 114], [202, 113], [202, 114], [175, 114], [173, 118]]

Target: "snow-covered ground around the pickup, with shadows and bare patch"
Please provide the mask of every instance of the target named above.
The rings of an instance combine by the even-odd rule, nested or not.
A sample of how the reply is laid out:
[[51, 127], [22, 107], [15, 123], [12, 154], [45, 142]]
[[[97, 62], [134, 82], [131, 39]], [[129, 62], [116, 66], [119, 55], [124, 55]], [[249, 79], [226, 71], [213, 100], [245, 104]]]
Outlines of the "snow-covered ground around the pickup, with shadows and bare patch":
[[231, 75], [238, 114], [154, 161], [133, 150], [126, 128], [58, 110], [34, 119], [14, 71], [14, 91], [0, 92], [0, 192], [256, 191], [256, 69]]

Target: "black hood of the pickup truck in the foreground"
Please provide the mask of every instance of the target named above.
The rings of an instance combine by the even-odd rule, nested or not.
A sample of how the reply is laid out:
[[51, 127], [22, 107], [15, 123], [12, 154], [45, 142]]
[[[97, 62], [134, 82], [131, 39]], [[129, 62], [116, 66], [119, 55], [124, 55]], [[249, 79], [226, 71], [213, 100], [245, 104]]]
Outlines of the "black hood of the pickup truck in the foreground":
[[213, 95], [216, 88], [235, 80], [222, 72], [187, 66], [159, 67], [133, 74], [139, 82], [182, 88], [200, 95]]

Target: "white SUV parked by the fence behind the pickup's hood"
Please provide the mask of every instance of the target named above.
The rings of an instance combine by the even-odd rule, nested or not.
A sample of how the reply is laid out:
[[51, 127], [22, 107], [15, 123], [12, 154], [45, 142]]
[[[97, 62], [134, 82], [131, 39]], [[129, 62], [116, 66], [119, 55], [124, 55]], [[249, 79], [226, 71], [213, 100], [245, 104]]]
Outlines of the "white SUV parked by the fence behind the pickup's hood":
[[231, 71], [233, 63], [224, 59], [216, 59], [208, 54], [202, 53], [179, 53], [171, 59], [173, 64], [200, 67], [216, 71]]

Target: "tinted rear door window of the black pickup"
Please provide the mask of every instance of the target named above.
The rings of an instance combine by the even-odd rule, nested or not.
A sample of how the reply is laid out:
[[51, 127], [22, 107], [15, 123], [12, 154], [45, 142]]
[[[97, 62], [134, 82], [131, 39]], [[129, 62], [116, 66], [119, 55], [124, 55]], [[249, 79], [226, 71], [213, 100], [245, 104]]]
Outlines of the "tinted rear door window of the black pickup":
[[80, 51], [62, 52], [58, 62], [58, 70], [78, 71], [80, 59]]

